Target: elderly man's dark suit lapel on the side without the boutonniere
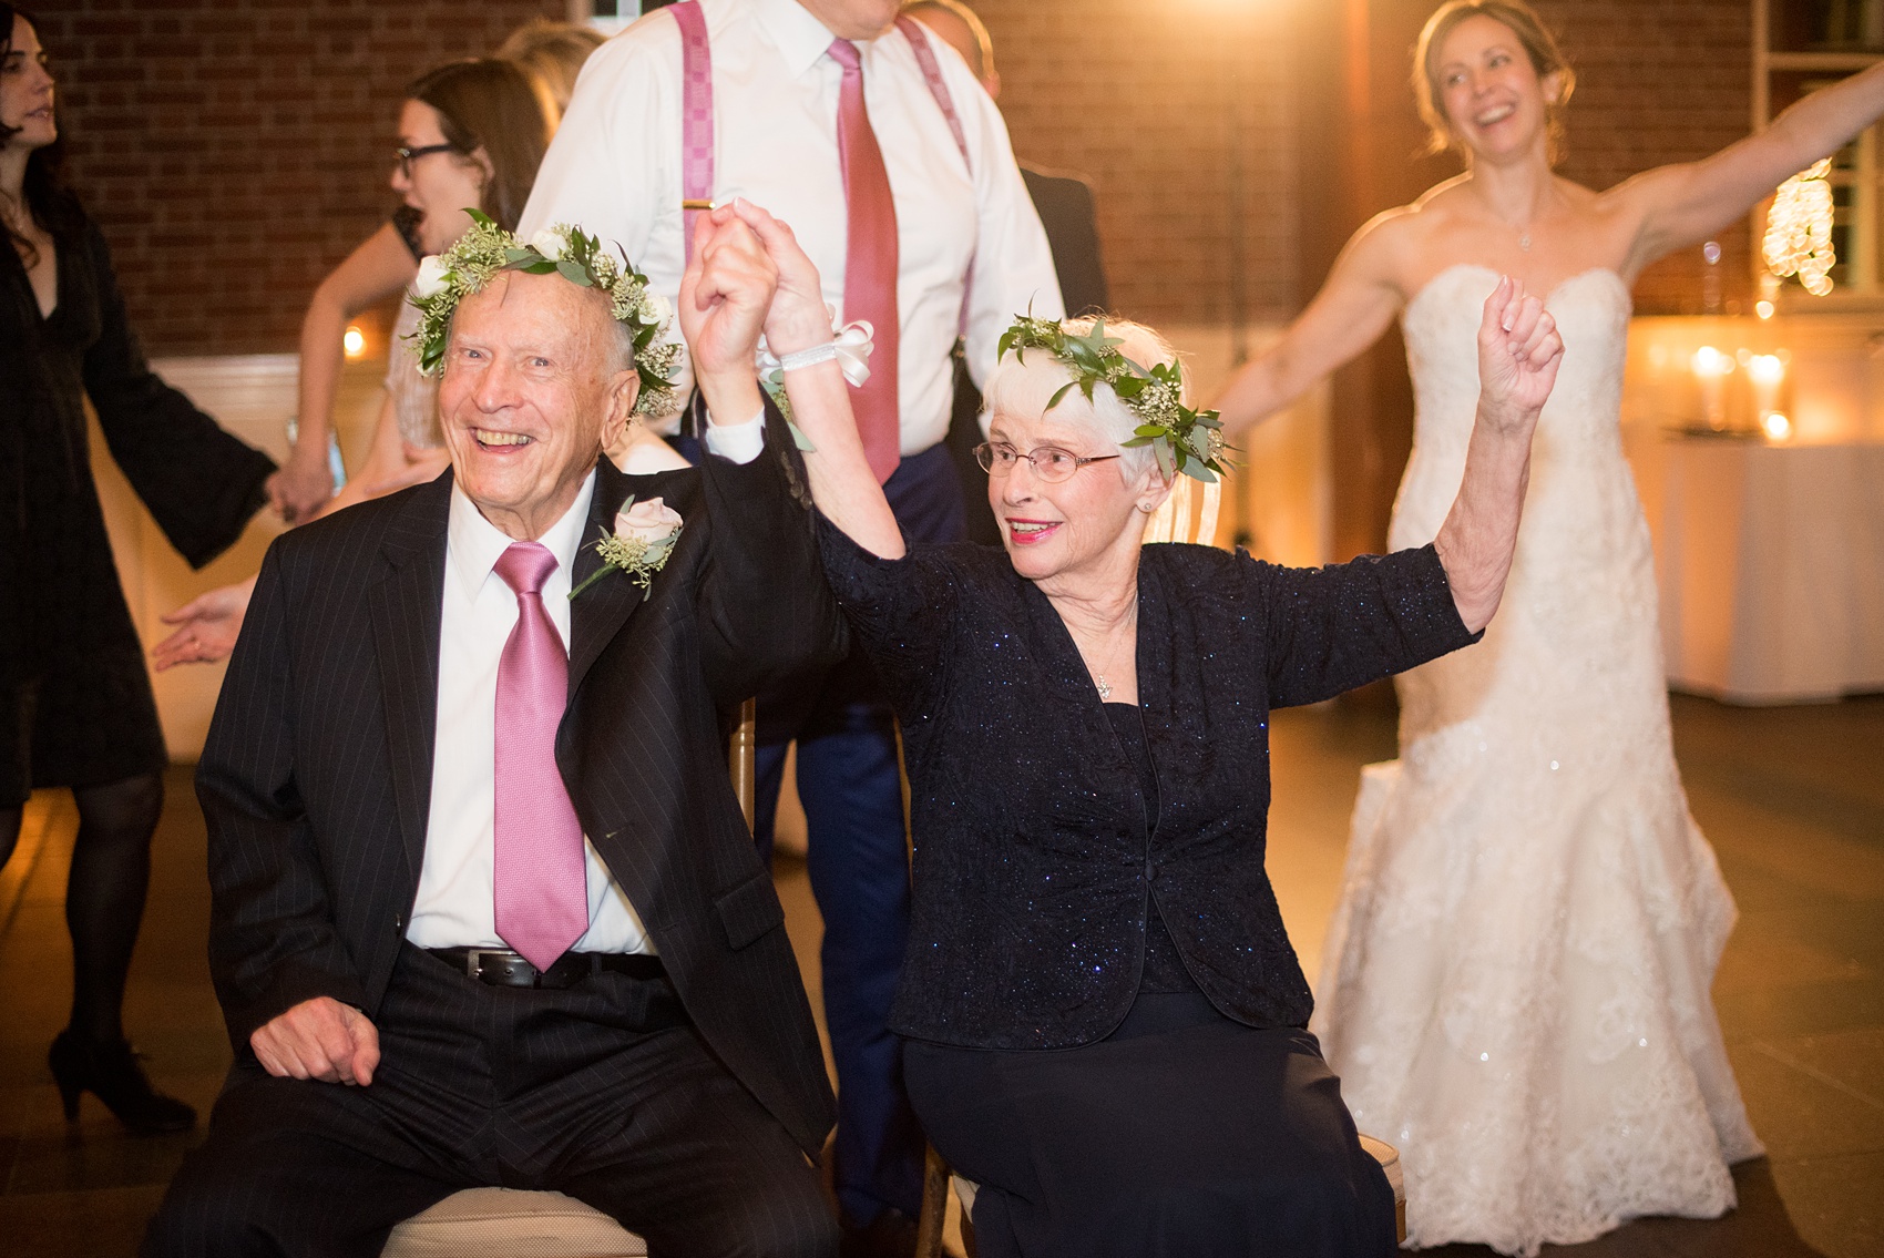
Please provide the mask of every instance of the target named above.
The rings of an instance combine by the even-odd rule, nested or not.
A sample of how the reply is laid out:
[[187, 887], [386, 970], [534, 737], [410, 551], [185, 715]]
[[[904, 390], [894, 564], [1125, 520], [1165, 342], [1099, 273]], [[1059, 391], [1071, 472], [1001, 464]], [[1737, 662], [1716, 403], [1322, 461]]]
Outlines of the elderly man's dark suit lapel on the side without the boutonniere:
[[431, 810], [431, 751], [439, 714], [439, 618], [445, 603], [445, 535], [452, 476], [420, 486], [381, 542], [381, 580], [367, 588], [373, 648], [386, 708], [392, 797], [405, 859], [418, 881]]

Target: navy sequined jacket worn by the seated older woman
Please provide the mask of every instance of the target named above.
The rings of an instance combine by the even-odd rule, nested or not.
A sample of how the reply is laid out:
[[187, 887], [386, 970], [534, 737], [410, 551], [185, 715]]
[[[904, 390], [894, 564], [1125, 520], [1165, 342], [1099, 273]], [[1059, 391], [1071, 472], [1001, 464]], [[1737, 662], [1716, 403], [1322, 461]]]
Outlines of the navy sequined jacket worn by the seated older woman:
[[1140, 776], [1040, 589], [1004, 552], [878, 559], [829, 522], [825, 573], [902, 721], [914, 913], [891, 1028], [982, 1049], [1102, 1040], [1138, 992], [1151, 898], [1196, 985], [1251, 1026], [1306, 1026], [1264, 872], [1270, 708], [1473, 642], [1432, 546], [1285, 569], [1145, 546]]

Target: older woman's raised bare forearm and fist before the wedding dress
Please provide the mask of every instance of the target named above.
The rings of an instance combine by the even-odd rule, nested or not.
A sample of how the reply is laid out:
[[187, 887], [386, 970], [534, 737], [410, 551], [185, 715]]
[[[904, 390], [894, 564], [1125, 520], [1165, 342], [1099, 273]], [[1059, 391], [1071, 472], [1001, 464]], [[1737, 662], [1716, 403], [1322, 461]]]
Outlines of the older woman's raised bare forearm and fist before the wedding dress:
[[1564, 341], [1543, 301], [1511, 277], [1498, 281], [1479, 322], [1479, 414], [1466, 446], [1466, 476], [1434, 539], [1458, 618], [1471, 633], [1492, 621], [1505, 593], [1530, 482], [1532, 433], [1562, 358]]

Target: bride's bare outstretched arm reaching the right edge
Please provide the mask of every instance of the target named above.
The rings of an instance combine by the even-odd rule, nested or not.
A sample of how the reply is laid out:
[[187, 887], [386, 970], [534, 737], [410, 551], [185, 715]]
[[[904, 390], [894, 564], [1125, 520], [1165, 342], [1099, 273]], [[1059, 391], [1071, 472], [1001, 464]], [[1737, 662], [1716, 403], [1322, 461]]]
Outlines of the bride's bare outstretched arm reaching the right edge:
[[1705, 241], [1878, 117], [1884, 117], [1884, 66], [1871, 66], [1812, 92], [1763, 132], [1713, 156], [1658, 166], [1624, 181], [1605, 194], [1633, 203], [1641, 222], [1624, 277], [1633, 281], [1656, 258]]

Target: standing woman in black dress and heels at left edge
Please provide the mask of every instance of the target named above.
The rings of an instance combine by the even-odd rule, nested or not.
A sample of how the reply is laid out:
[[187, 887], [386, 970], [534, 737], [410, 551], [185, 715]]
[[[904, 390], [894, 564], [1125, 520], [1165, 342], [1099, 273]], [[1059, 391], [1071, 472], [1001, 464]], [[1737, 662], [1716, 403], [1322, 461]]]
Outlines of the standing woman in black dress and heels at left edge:
[[98, 1094], [136, 1132], [196, 1113], [154, 1092], [121, 1009], [164, 800], [164, 736], [111, 563], [85, 433], [202, 567], [262, 505], [275, 465], [143, 362], [104, 235], [58, 179], [53, 77], [34, 24], [0, 4], [0, 864], [34, 787], [72, 787], [72, 1023], [51, 1066], [66, 1105]]

